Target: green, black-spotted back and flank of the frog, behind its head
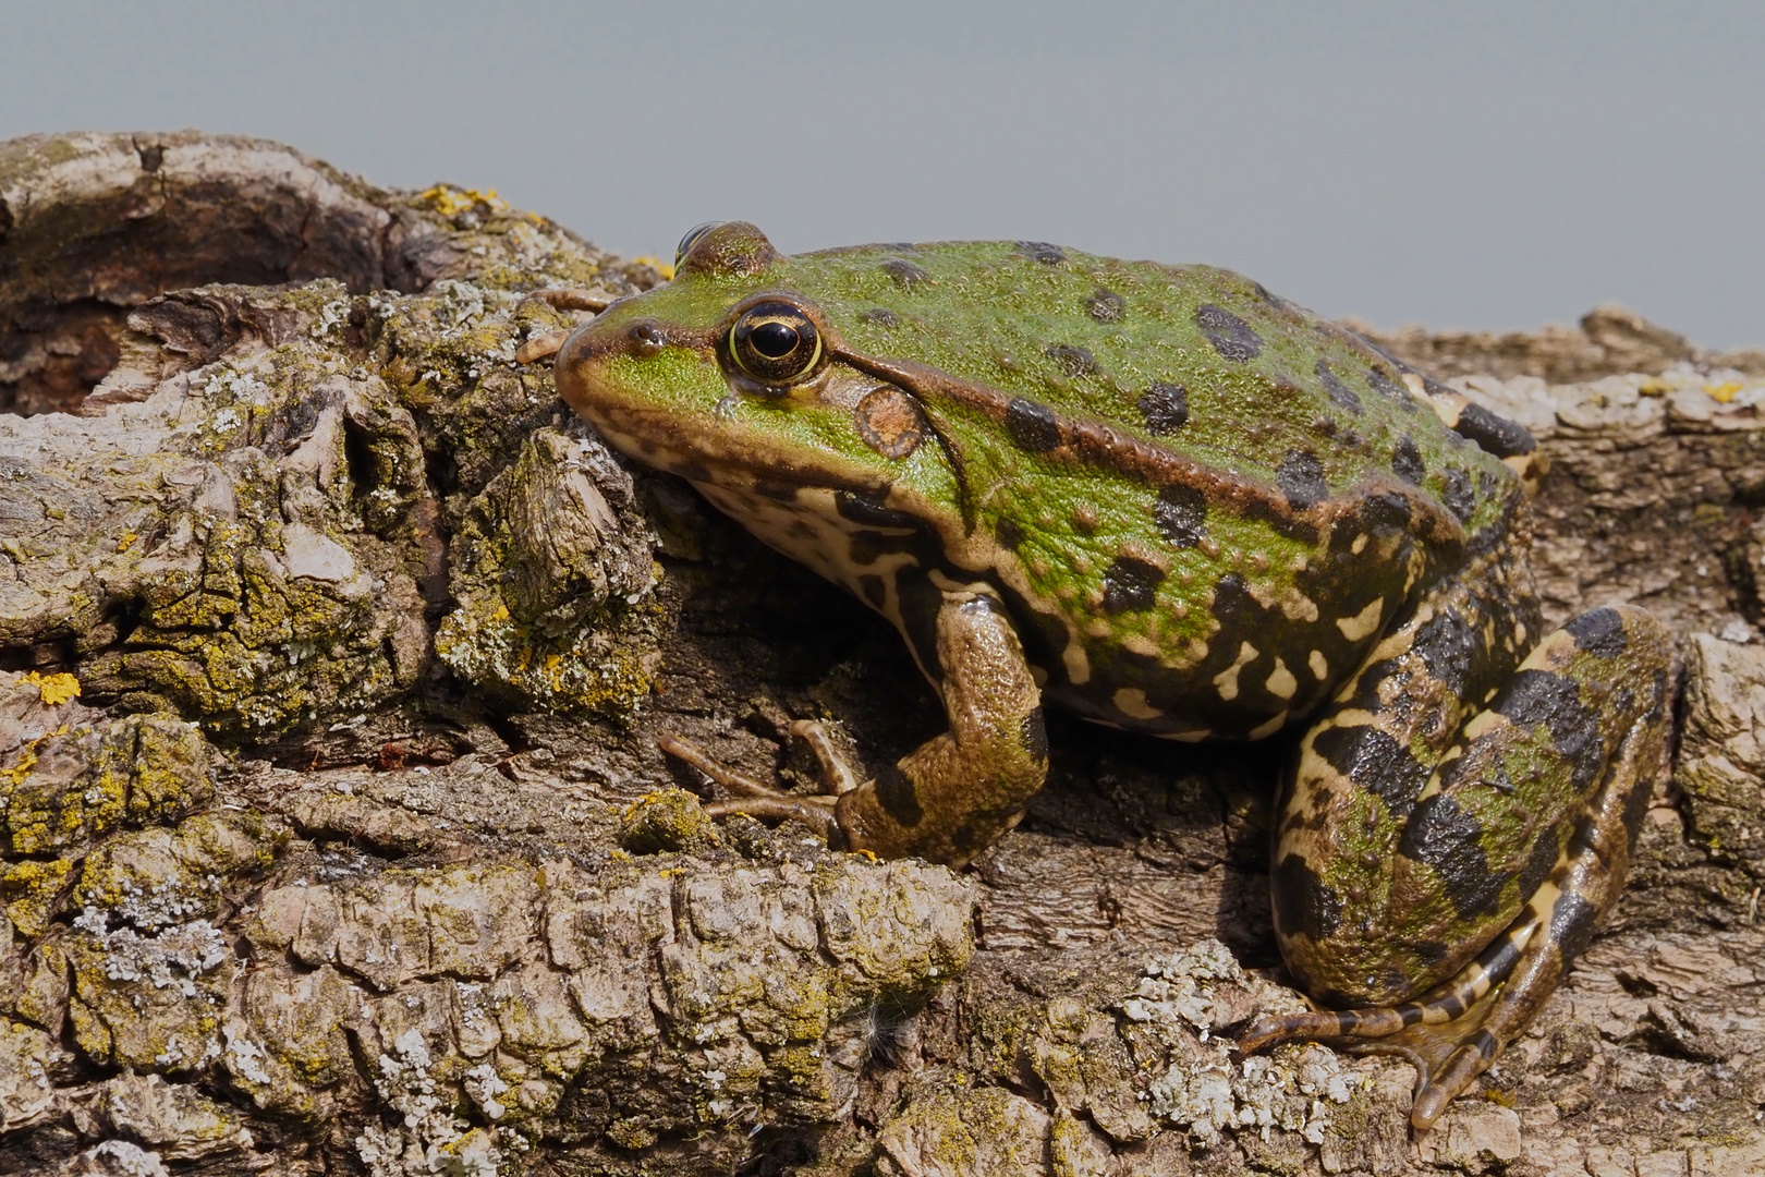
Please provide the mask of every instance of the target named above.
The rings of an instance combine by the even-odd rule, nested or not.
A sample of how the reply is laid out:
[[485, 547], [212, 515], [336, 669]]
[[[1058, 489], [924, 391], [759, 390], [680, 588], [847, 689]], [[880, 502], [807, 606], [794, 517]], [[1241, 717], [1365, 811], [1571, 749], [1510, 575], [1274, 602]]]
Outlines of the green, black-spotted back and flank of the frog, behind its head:
[[1047, 693], [1091, 718], [1280, 729], [1521, 499], [1502, 438], [1430, 411], [1446, 388], [1228, 270], [946, 242], [780, 277], [847, 353], [951, 378], [921, 395], [962, 468], [944, 556], [1001, 589]]

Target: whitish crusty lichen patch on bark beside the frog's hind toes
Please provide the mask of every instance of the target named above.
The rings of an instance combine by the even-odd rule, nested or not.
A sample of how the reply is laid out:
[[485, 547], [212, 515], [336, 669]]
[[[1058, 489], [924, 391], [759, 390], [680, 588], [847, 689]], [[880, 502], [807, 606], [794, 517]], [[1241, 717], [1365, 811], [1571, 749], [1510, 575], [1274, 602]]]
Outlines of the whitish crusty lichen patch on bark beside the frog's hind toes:
[[1322, 1143], [1331, 1105], [1347, 1103], [1364, 1076], [1317, 1045], [1283, 1045], [1234, 1062], [1232, 1043], [1213, 1032], [1223, 986], [1248, 990], [1262, 1013], [1304, 1009], [1288, 990], [1246, 974], [1220, 941], [1147, 963], [1121, 1011], [1153, 1031], [1175, 1062], [1140, 1098], [1207, 1147], [1225, 1131], [1253, 1129], [1267, 1140], [1271, 1128]]

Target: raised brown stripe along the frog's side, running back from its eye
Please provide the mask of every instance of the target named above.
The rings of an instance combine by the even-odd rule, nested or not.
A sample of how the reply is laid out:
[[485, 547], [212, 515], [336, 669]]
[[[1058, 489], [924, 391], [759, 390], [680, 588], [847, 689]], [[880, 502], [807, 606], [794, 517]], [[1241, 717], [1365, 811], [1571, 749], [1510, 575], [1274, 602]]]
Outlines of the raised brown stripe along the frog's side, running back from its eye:
[[[1396, 478], [1375, 475], [1345, 494], [1311, 501], [1308, 492], [1317, 487], [1310, 478], [1310, 462], [1301, 457], [1288, 471], [1292, 489], [1303, 492], [1303, 498], [1296, 501], [1285, 487], [1266, 489], [1244, 478], [1223, 475], [1105, 422], [1066, 416], [1027, 397], [957, 379], [918, 360], [856, 355], [833, 339], [828, 341], [828, 346], [835, 358], [868, 376], [905, 388], [921, 404], [948, 402], [997, 422], [1020, 448], [1045, 461], [1110, 471], [1149, 487], [1191, 487], [1202, 494], [1209, 506], [1221, 506], [1241, 517], [1264, 521], [1269, 526], [1287, 529], [1288, 535], [1304, 533], [1315, 538], [1329, 529], [1338, 517], [1354, 512], [1361, 498], [1382, 494], [1407, 499], [1410, 531], [1430, 544], [1456, 547], [1465, 536], [1458, 519], [1416, 487], [1403, 485]], [[944, 438], [943, 431], [934, 427], [932, 432], [957, 468], [957, 476], [964, 478], [960, 450]], [[964, 508], [971, 510], [965, 496]]]

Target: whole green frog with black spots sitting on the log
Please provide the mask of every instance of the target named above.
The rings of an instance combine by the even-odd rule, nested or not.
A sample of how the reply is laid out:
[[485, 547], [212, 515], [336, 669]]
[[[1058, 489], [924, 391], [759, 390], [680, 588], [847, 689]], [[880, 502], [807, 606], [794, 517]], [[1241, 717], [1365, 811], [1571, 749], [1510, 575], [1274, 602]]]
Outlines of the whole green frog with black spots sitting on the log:
[[628, 459], [882, 614], [948, 731], [821, 792], [667, 736], [830, 843], [960, 868], [1048, 775], [1045, 706], [1170, 741], [1288, 732], [1271, 905], [1315, 1039], [1417, 1069], [1410, 1122], [1537, 1015], [1615, 903], [1661, 775], [1671, 644], [1631, 603], [1546, 630], [1521, 425], [1230, 270], [1045, 242], [785, 256], [688, 233], [561, 342]]

